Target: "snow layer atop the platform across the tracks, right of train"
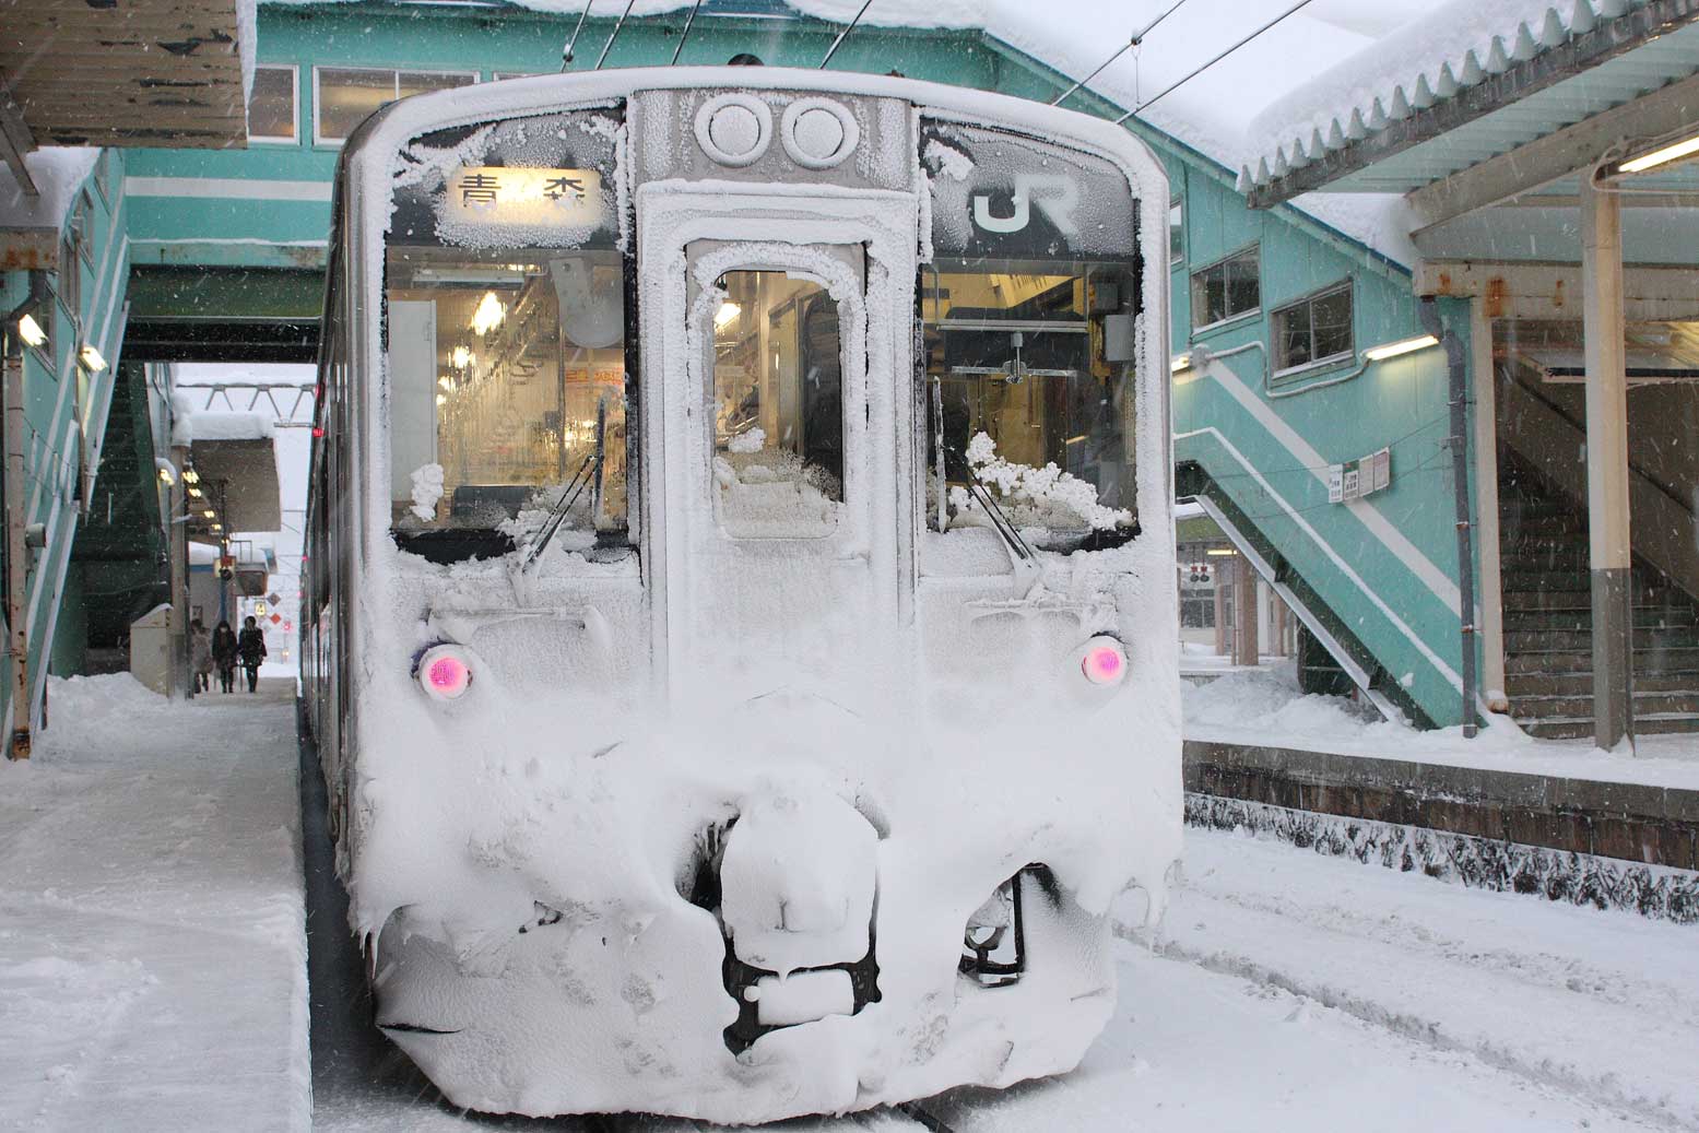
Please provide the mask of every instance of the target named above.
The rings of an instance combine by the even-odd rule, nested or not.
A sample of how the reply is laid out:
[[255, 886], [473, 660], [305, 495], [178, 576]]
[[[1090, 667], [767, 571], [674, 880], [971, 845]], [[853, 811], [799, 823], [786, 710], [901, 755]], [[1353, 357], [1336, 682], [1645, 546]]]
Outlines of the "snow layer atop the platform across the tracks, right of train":
[[1424, 732], [1342, 696], [1305, 696], [1291, 664], [1186, 685], [1183, 712], [1184, 736], [1196, 741], [1699, 790], [1699, 736], [1645, 736], [1631, 754], [1589, 741], [1532, 739], [1502, 717], [1475, 739], [1463, 739], [1459, 727]]

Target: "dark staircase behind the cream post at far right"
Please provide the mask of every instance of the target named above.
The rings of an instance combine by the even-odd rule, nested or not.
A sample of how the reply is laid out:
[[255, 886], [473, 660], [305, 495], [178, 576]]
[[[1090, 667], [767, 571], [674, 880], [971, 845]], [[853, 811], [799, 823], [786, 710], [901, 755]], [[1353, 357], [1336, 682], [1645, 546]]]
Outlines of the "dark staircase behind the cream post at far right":
[[[1499, 452], [1504, 671], [1531, 736], [1594, 734], [1587, 510], [1509, 448]], [[1699, 732], [1699, 603], [1638, 555], [1634, 732]]]

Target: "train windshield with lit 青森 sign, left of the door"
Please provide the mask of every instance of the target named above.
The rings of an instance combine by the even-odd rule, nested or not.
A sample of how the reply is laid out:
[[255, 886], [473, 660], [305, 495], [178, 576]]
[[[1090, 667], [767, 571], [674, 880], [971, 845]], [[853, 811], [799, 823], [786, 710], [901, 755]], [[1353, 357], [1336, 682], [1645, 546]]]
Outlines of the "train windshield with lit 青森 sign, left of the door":
[[384, 255], [391, 532], [437, 562], [627, 538], [627, 273], [608, 112], [443, 131]]

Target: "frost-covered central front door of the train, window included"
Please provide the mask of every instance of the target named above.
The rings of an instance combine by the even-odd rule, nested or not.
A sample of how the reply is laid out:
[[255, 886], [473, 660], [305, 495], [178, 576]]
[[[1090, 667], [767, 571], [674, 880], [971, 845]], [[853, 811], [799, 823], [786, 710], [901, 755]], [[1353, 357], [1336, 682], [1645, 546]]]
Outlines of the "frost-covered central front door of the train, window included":
[[646, 525], [675, 698], [856, 702], [906, 668], [912, 290], [890, 280], [912, 260], [894, 275], [875, 229], [785, 204], [698, 219], [647, 260], [669, 277], [646, 335]]

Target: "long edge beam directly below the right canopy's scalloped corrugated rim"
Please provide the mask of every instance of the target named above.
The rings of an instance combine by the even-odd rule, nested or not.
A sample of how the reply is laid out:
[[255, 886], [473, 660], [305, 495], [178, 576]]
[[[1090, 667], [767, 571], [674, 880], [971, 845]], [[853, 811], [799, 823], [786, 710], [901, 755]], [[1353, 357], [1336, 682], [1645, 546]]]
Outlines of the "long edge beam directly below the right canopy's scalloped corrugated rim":
[[1573, 36], [1549, 51], [1514, 63], [1499, 75], [1488, 75], [1483, 82], [1444, 102], [1417, 110], [1403, 121], [1390, 122], [1386, 129], [1374, 131], [1332, 153], [1324, 153], [1284, 177], [1274, 177], [1266, 185], [1252, 185], [1247, 204], [1252, 209], [1267, 209], [1300, 194], [1325, 189], [1347, 173], [1439, 138], [1505, 105], [1514, 105], [1538, 90], [1553, 87], [1696, 20], [1699, 20], [1699, 0], [1650, 0], [1645, 7], [1614, 20], [1600, 20], [1585, 36]]

